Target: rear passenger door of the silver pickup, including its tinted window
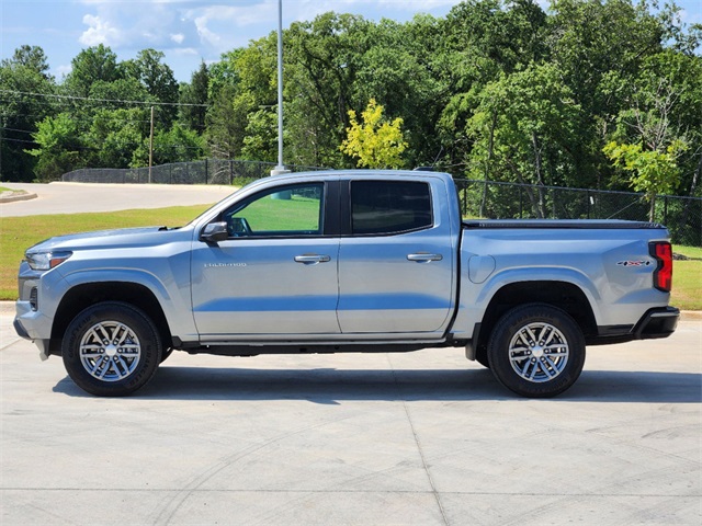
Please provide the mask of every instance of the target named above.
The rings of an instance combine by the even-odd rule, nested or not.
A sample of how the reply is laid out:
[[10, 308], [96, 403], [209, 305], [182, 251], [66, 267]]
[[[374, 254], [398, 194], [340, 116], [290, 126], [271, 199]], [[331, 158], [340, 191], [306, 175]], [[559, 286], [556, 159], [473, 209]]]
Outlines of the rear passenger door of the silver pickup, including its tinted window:
[[[352, 180], [339, 250], [339, 324], [344, 334], [435, 335], [450, 321], [454, 250], [448, 195], [426, 180]], [[344, 217], [344, 210], [342, 210]]]

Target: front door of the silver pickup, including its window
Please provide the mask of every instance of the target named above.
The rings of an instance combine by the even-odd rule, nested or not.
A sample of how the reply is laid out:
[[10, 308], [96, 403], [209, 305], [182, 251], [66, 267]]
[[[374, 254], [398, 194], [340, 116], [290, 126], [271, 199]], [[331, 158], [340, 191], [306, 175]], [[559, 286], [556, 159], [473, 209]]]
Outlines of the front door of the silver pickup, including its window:
[[226, 221], [227, 240], [195, 242], [192, 299], [203, 341], [340, 332], [339, 238], [326, 230], [325, 207], [335, 184], [261, 191], [216, 219]]

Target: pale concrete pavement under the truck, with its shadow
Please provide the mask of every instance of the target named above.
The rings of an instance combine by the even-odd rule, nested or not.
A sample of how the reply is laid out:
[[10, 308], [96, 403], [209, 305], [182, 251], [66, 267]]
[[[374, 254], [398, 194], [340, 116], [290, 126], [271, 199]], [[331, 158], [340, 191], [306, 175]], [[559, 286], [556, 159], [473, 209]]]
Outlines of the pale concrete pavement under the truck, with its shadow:
[[702, 522], [702, 330], [590, 347], [576, 386], [512, 397], [462, 350], [174, 353], [92, 398], [0, 316], [0, 524]]

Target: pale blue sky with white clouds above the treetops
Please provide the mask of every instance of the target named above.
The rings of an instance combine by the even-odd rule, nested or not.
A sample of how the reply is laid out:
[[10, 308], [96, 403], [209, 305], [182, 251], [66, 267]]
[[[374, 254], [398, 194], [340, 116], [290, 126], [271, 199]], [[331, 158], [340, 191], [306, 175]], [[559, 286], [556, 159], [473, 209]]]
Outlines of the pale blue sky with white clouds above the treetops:
[[[336, 11], [405, 22], [417, 13], [444, 16], [458, 0], [282, 0], [283, 27]], [[542, 0], [544, 8], [547, 0]], [[663, 3], [663, 1], [661, 1]], [[702, 0], [677, 0], [688, 23], [702, 23]], [[41, 46], [58, 81], [70, 61], [104, 44], [120, 60], [141, 49], [162, 52], [179, 81], [200, 62], [242, 47], [278, 28], [279, 0], [0, 0], [0, 58]]]

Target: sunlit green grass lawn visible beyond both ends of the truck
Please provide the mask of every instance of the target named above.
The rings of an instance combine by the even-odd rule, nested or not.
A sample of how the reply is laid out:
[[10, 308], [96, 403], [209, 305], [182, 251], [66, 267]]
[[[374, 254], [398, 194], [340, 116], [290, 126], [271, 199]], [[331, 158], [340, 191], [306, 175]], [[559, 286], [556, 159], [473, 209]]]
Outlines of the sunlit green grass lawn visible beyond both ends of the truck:
[[[290, 205], [299, 206], [301, 203]], [[16, 299], [16, 273], [24, 250], [44, 239], [111, 228], [157, 225], [177, 227], [190, 222], [206, 208], [206, 205], [197, 205], [106, 214], [3, 217], [0, 222], [0, 300]], [[283, 221], [284, 218], [281, 217], [280, 220]], [[287, 220], [290, 221], [290, 216]], [[670, 304], [683, 310], [702, 310], [702, 248], [675, 245], [673, 252], [695, 260], [673, 262]]]

